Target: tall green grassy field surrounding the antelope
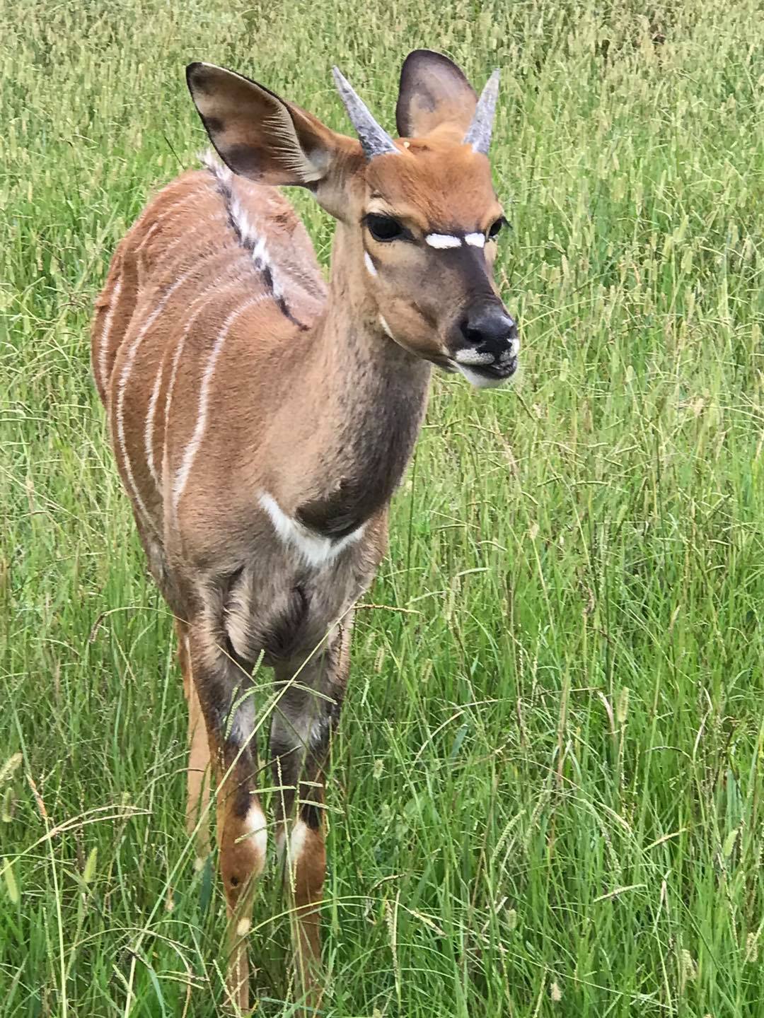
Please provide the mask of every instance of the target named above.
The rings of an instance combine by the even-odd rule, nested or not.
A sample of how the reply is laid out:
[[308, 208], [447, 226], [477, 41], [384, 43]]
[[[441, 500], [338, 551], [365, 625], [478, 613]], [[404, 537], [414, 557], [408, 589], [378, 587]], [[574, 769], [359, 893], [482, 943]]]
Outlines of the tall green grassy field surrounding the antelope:
[[[764, 1014], [758, 0], [0, 0], [0, 1015], [223, 1014], [185, 708], [91, 382], [190, 59], [347, 130], [503, 71], [513, 390], [434, 386], [329, 783], [327, 1015]], [[296, 201], [323, 262], [331, 223]], [[273, 870], [275, 867], [271, 867]], [[263, 885], [263, 1016], [295, 1014]]]

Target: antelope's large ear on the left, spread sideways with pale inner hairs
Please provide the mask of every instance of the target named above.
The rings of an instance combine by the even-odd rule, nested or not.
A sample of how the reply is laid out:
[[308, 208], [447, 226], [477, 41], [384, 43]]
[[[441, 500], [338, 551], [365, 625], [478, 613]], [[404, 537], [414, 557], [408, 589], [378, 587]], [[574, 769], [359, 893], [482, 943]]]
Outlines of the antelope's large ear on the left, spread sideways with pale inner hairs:
[[357, 142], [224, 67], [192, 63], [185, 78], [210, 140], [234, 173], [263, 184], [309, 187], [335, 216], [346, 207], [337, 164], [363, 161]]

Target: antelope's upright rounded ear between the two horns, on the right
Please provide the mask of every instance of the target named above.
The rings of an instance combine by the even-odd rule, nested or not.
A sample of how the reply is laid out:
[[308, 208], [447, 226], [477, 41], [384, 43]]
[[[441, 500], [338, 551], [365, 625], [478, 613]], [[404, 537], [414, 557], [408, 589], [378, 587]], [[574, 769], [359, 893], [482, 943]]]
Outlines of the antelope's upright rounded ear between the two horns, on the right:
[[448, 57], [432, 50], [414, 50], [400, 70], [395, 107], [398, 133], [418, 137], [446, 122], [466, 131], [477, 102], [475, 89]]

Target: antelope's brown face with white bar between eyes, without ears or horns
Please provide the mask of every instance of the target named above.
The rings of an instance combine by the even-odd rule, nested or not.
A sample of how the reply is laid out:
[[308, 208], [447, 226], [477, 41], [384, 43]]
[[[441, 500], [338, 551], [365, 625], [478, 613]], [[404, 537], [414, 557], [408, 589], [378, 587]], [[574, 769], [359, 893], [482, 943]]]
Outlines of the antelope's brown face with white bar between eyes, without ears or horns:
[[388, 335], [483, 388], [511, 378], [520, 343], [493, 278], [503, 212], [488, 159], [462, 138], [445, 125], [371, 161], [359, 225]]

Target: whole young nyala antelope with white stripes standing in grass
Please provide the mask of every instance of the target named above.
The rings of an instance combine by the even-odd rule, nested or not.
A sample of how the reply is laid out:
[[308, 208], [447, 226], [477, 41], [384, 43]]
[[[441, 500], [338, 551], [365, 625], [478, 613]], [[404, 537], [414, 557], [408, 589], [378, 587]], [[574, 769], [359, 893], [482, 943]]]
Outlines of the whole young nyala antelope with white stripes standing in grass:
[[[298, 993], [320, 1004], [323, 777], [345, 690], [352, 606], [387, 547], [390, 498], [433, 364], [478, 387], [517, 365], [493, 281], [503, 223], [480, 98], [418, 50], [392, 138], [345, 78], [357, 137], [206, 63], [187, 82], [220, 157], [150, 202], [96, 304], [93, 366], [150, 568], [176, 620], [188, 701], [187, 822], [216, 787], [228, 986], [248, 1007], [245, 939], [268, 828], [256, 788], [254, 666], [274, 672], [276, 848]], [[279, 185], [336, 220], [328, 285]], [[198, 842], [206, 850], [204, 837]]]

